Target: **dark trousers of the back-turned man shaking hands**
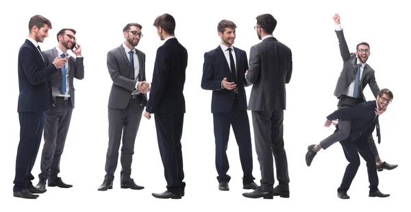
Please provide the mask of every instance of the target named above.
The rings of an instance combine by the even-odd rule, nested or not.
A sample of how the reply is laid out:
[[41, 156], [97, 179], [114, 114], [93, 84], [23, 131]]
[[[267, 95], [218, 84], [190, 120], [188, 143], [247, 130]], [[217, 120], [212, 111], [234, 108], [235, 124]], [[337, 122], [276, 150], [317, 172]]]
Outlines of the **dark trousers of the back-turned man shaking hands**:
[[154, 113], [158, 148], [164, 166], [166, 188], [174, 194], [182, 194], [186, 187], [183, 170], [182, 133], [183, 113]]

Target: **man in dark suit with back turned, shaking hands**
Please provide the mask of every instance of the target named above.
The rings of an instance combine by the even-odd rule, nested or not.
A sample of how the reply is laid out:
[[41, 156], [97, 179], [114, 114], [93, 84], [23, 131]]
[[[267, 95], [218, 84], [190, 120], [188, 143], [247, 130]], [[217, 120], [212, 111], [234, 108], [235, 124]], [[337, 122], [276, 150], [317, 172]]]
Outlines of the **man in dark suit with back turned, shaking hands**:
[[174, 36], [173, 16], [162, 14], [155, 18], [153, 25], [160, 40], [165, 42], [155, 55], [153, 82], [144, 116], [150, 119], [154, 114], [167, 190], [152, 195], [155, 198], [181, 199], [186, 187], [180, 140], [186, 112], [183, 90], [188, 53]]

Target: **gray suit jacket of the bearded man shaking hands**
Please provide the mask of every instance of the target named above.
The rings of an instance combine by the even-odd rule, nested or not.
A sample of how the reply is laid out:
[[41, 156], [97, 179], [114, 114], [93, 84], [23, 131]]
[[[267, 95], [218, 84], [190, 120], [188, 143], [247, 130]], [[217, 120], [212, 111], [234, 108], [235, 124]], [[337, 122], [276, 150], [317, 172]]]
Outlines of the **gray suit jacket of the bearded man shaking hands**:
[[[123, 44], [107, 53], [107, 68], [113, 84], [108, 98], [108, 108], [125, 109], [132, 92], [136, 90], [137, 81], [145, 81], [145, 53], [136, 49], [138, 63], [140, 64], [139, 79], [134, 79], [134, 68], [130, 66], [125, 55]], [[142, 104], [147, 104], [147, 94], [142, 94]]]

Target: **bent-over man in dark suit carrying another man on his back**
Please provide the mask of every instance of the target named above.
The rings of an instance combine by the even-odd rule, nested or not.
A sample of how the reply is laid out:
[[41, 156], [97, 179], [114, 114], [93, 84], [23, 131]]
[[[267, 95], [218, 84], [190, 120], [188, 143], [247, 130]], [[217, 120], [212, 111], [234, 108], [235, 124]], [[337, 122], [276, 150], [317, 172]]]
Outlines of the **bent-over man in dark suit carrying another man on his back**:
[[366, 161], [370, 183], [369, 196], [382, 198], [390, 196], [389, 194], [382, 194], [378, 189], [375, 156], [367, 139], [373, 133], [375, 127], [377, 127], [377, 135], [379, 135], [378, 116], [386, 111], [393, 98], [393, 92], [385, 88], [377, 95], [377, 101], [367, 101], [356, 105], [356, 107], [341, 108], [327, 116], [325, 127], [329, 127], [333, 120], [351, 120], [349, 137], [340, 141], [349, 164], [345, 169], [343, 182], [337, 190], [338, 198], [349, 199], [347, 191], [360, 166], [358, 153]]

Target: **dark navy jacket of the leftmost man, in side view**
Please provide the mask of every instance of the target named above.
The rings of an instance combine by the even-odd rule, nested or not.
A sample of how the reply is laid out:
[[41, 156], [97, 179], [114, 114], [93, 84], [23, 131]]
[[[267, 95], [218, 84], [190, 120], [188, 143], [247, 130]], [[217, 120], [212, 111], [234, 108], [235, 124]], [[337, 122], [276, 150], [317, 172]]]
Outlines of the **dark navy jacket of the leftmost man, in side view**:
[[52, 105], [49, 77], [55, 72], [54, 64], [46, 66], [37, 47], [25, 40], [18, 51], [18, 112], [49, 110]]

